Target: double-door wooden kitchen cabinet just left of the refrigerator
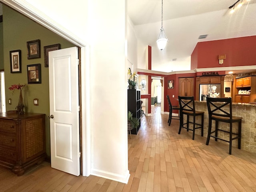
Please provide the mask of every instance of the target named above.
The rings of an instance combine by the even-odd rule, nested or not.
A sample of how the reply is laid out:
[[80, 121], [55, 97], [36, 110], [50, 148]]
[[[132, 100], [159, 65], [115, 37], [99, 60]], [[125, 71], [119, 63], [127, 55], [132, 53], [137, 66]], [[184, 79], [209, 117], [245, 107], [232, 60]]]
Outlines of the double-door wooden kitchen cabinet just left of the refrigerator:
[[194, 77], [179, 78], [179, 96], [194, 96]]

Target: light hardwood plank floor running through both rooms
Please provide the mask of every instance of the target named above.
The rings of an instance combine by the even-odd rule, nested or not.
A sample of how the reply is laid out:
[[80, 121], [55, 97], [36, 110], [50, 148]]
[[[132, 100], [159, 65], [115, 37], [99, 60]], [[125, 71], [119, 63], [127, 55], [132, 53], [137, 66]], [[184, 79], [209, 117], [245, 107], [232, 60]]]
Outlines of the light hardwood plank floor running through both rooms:
[[128, 136], [128, 184], [96, 176], [72, 176], [48, 162], [17, 177], [0, 167], [0, 192], [255, 192], [256, 154], [192, 132], [178, 134], [178, 120], [168, 126], [160, 107], [142, 118], [138, 135]]

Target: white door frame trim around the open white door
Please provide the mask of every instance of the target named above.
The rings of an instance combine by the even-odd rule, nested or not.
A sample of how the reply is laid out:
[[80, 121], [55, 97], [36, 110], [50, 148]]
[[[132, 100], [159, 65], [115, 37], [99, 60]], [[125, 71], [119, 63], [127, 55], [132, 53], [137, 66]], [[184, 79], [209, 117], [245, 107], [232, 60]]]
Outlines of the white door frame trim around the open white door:
[[[70, 31], [66, 31], [63, 28], [60, 29], [57, 26], [58, 23], [53, 22], [48, 16], [38, 13], [38, 10], [34, 9], [29, 3], [26, 2], [14, 2], [10, 0], [1, 0], [4, 4], [10, 6], [14, 10], [17, 10], [21, 14], [28, 18], [38, 22], [42, 26], [48, 28], [69, 42], [81, 48], [81, 92], [82, 92], [82, 175], [89, 176], [91, 173], [91, 138], [90, 138], [90, 73], [89, 73], [89, 48], [85, 42], [80, 39], [76, 39], [76, 35]], [[87, 89], [86, 89], [87, 88]], [[86, 91], [85, 91], [86, 90]]]

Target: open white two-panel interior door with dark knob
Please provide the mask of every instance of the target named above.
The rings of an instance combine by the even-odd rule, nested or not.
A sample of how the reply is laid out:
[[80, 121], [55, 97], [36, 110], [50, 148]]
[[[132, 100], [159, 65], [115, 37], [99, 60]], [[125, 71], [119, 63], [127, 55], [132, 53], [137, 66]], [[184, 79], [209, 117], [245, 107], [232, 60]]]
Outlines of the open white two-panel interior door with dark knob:
[[49, 52], [52, 168], [80, 175], [78, 48]]

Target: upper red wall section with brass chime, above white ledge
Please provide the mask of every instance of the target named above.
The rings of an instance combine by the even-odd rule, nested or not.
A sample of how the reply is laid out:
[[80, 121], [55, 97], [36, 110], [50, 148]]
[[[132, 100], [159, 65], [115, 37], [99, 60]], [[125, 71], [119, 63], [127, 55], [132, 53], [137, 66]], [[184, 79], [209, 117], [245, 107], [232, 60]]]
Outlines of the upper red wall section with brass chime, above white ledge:
[[[256, 36], [198, 42], [191, 55], [191, 70], [209, 67], [256, 65]], [[226, 54], [222, 65], [218, 55]]]

